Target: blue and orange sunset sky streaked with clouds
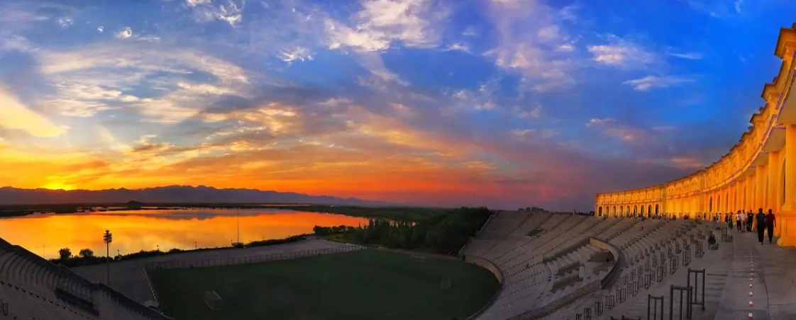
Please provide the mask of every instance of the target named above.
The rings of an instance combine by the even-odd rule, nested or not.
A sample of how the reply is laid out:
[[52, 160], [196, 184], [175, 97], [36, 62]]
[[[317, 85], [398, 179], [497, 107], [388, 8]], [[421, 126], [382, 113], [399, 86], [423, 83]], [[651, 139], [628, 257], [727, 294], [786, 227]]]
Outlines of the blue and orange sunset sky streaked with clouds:
[[796, 20], [792, 0], [65, 2], [0, 1], [0, 185], [559, 210], [727, 152]]

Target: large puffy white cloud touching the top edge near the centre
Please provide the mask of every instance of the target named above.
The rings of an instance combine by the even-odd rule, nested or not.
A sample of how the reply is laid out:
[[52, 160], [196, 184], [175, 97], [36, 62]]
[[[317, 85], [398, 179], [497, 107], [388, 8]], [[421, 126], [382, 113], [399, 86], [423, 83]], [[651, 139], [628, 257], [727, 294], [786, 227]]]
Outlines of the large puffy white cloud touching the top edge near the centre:
[[354, 15], [355, 28], [326, 20], [329, 48], [380, 51], [398, 41], [408, 47], [431, 48], [439, 42], [436, 28], [448, 15], [431, 0], [368, 0]]

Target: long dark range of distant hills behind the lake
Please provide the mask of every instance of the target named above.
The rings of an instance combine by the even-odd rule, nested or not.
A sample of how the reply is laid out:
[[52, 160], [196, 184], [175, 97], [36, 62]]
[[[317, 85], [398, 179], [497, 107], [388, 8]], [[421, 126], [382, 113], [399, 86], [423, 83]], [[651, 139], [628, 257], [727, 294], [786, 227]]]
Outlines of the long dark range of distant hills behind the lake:
[[0, 205], [56, 203], [314, 203], [352, 206], [388, 205], [387, 202], [338, 198], [328, 195], [304, 195], [295, 192], [259, 191], [256, 189], [217, 189], [214, 187], [169, 186], [146, 189], [49, 190], [0, 188]]

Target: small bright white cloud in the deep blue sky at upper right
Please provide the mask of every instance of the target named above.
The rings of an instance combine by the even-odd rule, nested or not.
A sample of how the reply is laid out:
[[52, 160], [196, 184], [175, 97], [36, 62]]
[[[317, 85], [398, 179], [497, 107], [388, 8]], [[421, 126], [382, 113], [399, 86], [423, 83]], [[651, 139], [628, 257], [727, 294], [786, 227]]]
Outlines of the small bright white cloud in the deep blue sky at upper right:
[[591, 45], [588, 51], [592, 60], [612, 67], [644, 68], [655, 61], [655, 56], [638, 44], [609, 36], [611, 44]]

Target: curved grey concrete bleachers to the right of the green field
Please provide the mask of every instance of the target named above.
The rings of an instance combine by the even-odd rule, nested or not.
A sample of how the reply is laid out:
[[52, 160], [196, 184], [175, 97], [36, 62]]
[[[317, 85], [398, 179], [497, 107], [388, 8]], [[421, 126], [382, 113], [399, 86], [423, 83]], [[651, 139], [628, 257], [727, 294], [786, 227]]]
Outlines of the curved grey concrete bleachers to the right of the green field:
[[[595, 303], [625, 315], [628, 290], [638, 295], [650, 270], [693, 250], [695, 237], [708, 232], [697, 226], [693, 220], [499, 211], [462, 250], [490, 261], [502, 278], [501, 291], [473, 319], [576, 319], [584, 309], [596, 319]], [[611, 308], [603, 306], [607, 297], [613, 297]]]

